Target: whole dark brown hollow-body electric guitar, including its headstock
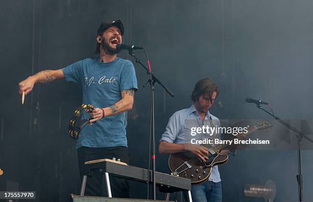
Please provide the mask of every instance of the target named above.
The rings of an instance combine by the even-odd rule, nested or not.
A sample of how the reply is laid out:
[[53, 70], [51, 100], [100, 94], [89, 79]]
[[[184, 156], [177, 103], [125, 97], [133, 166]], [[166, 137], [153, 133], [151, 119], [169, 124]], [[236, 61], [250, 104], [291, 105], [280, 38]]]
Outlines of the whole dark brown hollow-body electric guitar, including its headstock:
[[[254, 127], [249, 128], [247, 136], [254, 131], [269, 129], [272, 127], [269, 121], [261, 121]], [[203, 162], [200, 158], [190, 152], [171, 154], [168, 159], [168, 165], [173, 175], [191, 180], [191, 184], [197, 185], [206, 182], [209, 178], [212, 167], [224, 164], [228, 161], [228, 155], [220, 155], [219, 151], [228, 147], [230, 144], [218, 144], [214, 147], [203, 145], [209, 148], [209, 159]]]

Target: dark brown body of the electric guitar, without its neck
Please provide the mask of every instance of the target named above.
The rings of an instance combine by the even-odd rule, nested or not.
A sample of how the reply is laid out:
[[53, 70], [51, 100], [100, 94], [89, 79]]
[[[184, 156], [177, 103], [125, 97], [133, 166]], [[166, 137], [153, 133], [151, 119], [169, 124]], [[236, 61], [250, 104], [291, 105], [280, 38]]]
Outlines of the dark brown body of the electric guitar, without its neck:
[[212, 167], [224, 164], [228, 161], [228, 155], [218, 153], [209, 156], [206, 162], [200, 161], [192, 153], [171, 154], [168, 165], [172, 173], [182, 178], [191, 180], [191, 184], [198, 185], [206, 182], [211, 174]]

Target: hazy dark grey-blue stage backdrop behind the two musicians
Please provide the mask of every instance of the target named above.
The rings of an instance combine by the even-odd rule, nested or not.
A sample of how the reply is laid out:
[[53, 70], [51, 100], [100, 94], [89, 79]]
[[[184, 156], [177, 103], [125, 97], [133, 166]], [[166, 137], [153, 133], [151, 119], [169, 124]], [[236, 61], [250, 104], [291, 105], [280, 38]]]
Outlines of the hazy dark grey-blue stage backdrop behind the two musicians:
[[[281, 118], [313, 116], [312, 1], [12, 0], [1, 1], [0, 11], [1, 191], [36, 191], [36, 201], [66, 201], [79, 193], [75, 141], [66, 131], [81, 104], [81, 87], [65, 81], [36, 85], [22, 106], [18, 83], [43, 69], [97, 57], [95, 36], [103, 20], [122, 20], [123, 42], [144, 46], [153, 71], [175, 94], [155, 88], [157, 141], [173, 112], [192, 104], [193, 86], [205, 77], [220, 86], [211, 110], [220, 119], [270, 118], [245, 97], [270, 102]], [[127, 52], [119, 57], [130, 59]], [[127, 138], [131, 165], [146, 168], [150, 91], [142, 87], [147, 74], [135, 68], [139, 90], [127, 115]], [[312, 154], [307, 149], [302, 155], [305, 201], [313, 198]], [[219, 170], [223, 201], [263, 201], [245, 197], [243, 188], [268, 179], [277, 184], [276, 201], [298, 199], [296, 150], [239, 150]], [[157, 154], [157, 171], [168, 172], [166, 155]], [[132, 197], [145, 198], [146, 192], [145, 184], [131, 182]]]

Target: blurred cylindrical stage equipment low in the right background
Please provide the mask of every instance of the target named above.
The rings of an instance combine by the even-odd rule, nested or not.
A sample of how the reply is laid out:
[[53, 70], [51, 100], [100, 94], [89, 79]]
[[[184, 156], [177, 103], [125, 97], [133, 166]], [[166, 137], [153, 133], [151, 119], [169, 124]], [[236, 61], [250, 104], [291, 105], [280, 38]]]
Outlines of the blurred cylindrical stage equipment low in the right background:
[[276, 185], [273, 180], [267, 180], [265, 185], [244, 186], [244, 195], [249, 197], [264, 198], [266, 202], [273, 202], [276, 197]]

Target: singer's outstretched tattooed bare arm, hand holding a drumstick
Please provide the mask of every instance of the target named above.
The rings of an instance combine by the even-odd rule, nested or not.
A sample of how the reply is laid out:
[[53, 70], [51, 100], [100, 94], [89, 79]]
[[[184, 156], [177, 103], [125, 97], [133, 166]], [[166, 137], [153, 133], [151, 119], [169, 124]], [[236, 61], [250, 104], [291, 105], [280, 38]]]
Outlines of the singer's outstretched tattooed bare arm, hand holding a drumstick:
[[25, 91], [25, 94], [27, 95], [30, 91], [32, 91], [35, 83], [45, 84], [53, 80], [63, 78], [64, 74], [62, 69], [39, 71], [38, 73], [28, 77], [26, 80], [21, 81], [18, 84], [18, 92], [19, 94], [22, 94]]

